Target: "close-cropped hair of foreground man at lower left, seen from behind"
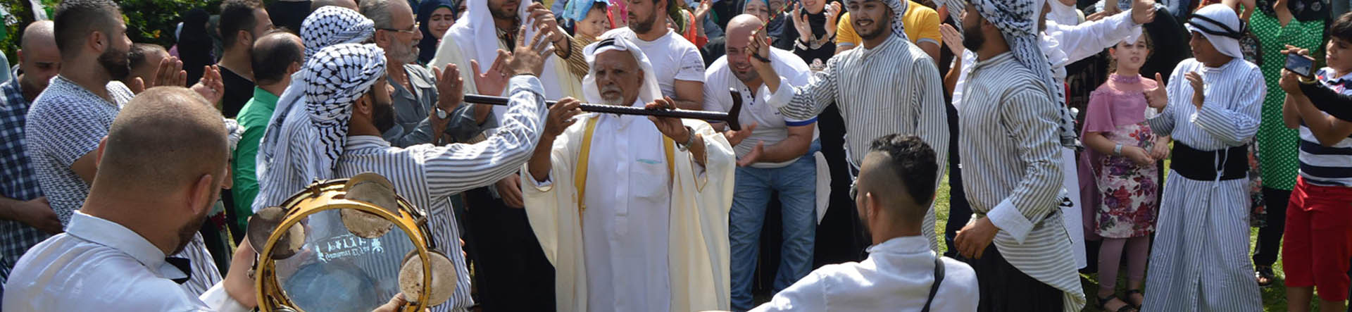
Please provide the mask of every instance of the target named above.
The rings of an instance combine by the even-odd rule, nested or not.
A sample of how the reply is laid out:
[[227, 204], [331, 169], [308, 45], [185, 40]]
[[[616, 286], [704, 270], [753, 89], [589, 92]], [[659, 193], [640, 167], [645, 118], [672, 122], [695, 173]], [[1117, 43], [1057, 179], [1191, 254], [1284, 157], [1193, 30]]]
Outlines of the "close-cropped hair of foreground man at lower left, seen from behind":
[[224, 173], [226, 136], [220, 112], [196, 92], [150, 88], [112, 120], [95, 182], [146, 194], [178, 192], [201, 174]]

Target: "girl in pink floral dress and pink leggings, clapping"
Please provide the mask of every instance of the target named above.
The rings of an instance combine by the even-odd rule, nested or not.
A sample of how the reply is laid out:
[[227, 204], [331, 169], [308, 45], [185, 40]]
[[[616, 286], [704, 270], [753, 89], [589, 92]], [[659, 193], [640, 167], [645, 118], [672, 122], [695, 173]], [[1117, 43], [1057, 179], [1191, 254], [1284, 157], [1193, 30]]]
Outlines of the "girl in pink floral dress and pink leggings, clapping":
[[[1140, 74], [1151, 54], [1145, 35], [1133, 35], [1109, 49], [1114, 74], [1090, 93], [1086, 108], [1083, 161], [1092, 167], [1098, 196], [1094, 209], [1094, 234], [1103, 238], [1099, 247], [1098, 303], [1103, 311], [1134, 311], [1144, 301], [1141, 282], [1149, 258], [1149, 235], [1155, 231], [1157, 203], [1156, 161], [1168, 157], [1168, 138], [1157, 136], [1145, 123], [1144, 90], [1156, 81]], [[1087, 177], [1088, 178], [1088, 177]], [[1118, 265], [1128, 258], [1126, 297], [1115, 293]]]

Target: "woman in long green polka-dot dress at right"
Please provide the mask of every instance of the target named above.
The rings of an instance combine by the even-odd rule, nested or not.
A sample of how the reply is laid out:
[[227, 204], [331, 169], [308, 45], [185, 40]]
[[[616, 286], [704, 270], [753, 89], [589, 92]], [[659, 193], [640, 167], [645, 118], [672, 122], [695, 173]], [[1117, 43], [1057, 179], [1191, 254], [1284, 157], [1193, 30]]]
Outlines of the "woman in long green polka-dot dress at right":
[[[1324, 55], [1324, 20], [1329, 4], [1324, 0], [1257, 0], [1251, 12], [1249, 30], [1259, 39], [1261, 62], [1268, 90], [1276, 90], [1276, 84], [1286, 65], [1286, 46], [1310, 49], [1311, 55]], [[1244, 16], [1244, 15], [1241, 15]], [[1282, 246], [1282, 232], [1286, 224], [1286, 204], [1295, 186], [1295, 176], [1301, 166], [1299, 132], [1282, 124], [1282, 103], [1286, 95], [1268, 92], [1263, 99], [1263, 122], [1259, 124], [1257, 147], [1263, 155], [1259, 167], [1263, 177], [1263, 200], [1265, 224], [1259, 230], [1257, 246], [1253, 251], [1255, 276], [1260, 286], [1272, 285], [1276, 262]]]

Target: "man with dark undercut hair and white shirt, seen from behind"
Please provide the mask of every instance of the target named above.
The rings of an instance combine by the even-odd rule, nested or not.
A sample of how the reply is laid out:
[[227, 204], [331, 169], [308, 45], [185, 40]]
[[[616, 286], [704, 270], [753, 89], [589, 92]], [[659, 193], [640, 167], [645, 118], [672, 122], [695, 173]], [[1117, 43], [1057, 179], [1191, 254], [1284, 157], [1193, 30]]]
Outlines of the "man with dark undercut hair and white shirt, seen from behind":
[[976, 311], [976, 271], [921, 235], [936, 159], [921, 138], [875, 139], [850, 189], [873, 242], [868, 259], [822, 266], [753, 311]]

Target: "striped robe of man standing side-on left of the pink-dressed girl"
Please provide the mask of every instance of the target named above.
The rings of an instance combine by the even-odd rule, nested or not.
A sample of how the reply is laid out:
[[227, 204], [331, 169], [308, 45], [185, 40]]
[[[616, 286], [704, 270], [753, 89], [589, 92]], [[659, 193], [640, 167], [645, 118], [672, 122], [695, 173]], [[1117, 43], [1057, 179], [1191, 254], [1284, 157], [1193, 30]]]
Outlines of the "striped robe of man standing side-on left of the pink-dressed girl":
[[[1000, 228], [995, 247], [1014, 267], [1065, 292], [1067, 312], [1084, 307], [1060, 208], [1057, 103], [1037, 74], [1005, 53], [973, 66], [959, 109], [959, 157], [976, 217]], [[977, 271], [977, 274], [982, 274]]]

